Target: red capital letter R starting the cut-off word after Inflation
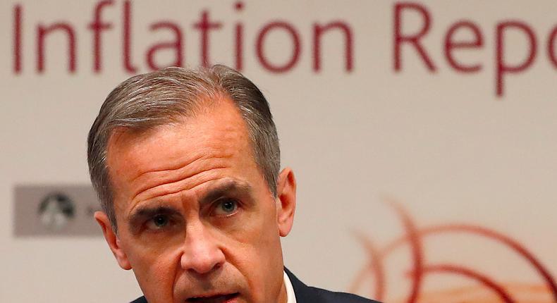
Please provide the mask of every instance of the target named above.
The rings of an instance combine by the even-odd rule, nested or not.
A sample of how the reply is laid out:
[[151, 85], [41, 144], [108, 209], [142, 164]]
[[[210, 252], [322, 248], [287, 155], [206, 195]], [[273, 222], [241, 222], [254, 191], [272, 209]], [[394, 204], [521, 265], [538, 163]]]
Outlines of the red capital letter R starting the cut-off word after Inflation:
[[[423, 17], [424, 20], [424, 25], [422, 26], [422, 29], [420, 30], [420, 32], [417, 32], [415, 35], [403, 35], [401, 32], [401, 15], [402, 15], [402, 11], [406, 10], [406, 9], [412, 9], [417, 11], [418, 13], [420, 13]], [[424, 6], [420, 5], [420, 4], [415, 4], [415, 3], [410, 3], [410, 2], [406, 2], [406, 3], [402, 3], [402, 4], [395, 4], [395, 10], [394, 10], [394, 20], [395, 20], [395, 24], [394, 24], [394, 65], [395, 65], [395, 70], [400, 70], [402, 63], [401, 63], [401, 56], [400, 56], [400, 46], [403, 43], [409, 43], [412, 44], [416, 51], [418, 52], [418, 54], [420, 54], [422, 60], [424, 61], [424, 63], [426, 64], [427, 68], [431, 71], [435, 71], [436, 68], [434, 66], [433, 61], [431, 61], [431, 58], [429, 58], [429, 56], [427, 56], [426, 51], [424, 50], [424, 47], [422, 47], [422, 44], [420, 44], [420, 39], [422, 39], [422, 37], [424, 37], [424, 35], [427, 34], [427, 32], [429, 31], [429, 26], [431, 25], [431, 17], [429, 16], [429, 13], [427, 12], [427, 8], [425, 8]]]

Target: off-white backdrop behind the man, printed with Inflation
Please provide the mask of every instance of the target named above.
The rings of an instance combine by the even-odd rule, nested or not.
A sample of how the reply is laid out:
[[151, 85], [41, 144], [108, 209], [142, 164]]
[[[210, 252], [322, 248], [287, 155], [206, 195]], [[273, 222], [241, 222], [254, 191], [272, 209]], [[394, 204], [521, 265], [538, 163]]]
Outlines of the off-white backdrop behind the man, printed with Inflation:
[[[393, 199], [418, 229], [466, 223], [496, 230], [520, 242], [550, 274], [557, 272], [557, 66], [549, 52], [557, 2], [246, 0], [239, 8], [235, 1], [114, 0], [100, 9], [110, 28], [99, 31], [101, 53], [95, 53], [89, 27], [98, 4], [0, 3], [1, 302], [128, 302], [140, 295], [133, 273], [118, 268], [100, 230], [97, 237], [16, 237], [13, 192], [16, 185], [89, 183], [86, 135], [104, 97], [133, 75], [130, 66], [142, 73], [150, 70], [149, 58], [159, 67], [176, 62], [177, 31], [171, 28], [182, 36], [183, 65], [202, 63], [203, 35], [194, 24], [203, 12], [220, 23], [207, 32], [210, 63], [237, 66], [235, 30], [242, 26], [243, 73], [269, 99], [283, 165], [298, 178], [295, 226], [283, 247], [286, 265], [299, 278], [377, 297], [365, 243], [383, 249], [407, 233], [386, 203]], [[400, 35], [424, 31], [419, 44], [400, 44], [399, 70], [397, 5]], [[458, 64], [479, 67], [472, 73], [453, 68], [446, 52], [446, 33], [462, 20], [479, 33], [461, 27], [451, 41], [468, 48], [460, 44], [449, 52]], [[161, 22], [166, 25], [150, 29]], [[349, 28], [352, 53], [346, 52], [345, 32], [333, 28], [322, 35], [315, 70], [314, 25], [333, 22]], [[40, 38], [41, 28], [56, 23], [63, 27]], [[286, 25], [298, 35], [297, 58]], [[75, 42], [73, 72], [68, 32]], [[149, 56], [149, 49], [165, 42], [173, 47]], [[98, 70], [94, 54], [102, 54]], [[269, 66], [286, 67], [276, 72]], [[425, 265], [472, 268], [518, 302], [554, 302], [528, 261], [485, 235], [420, 239]], [[415, 263], [409, 248], [396, 249], [381, 263], [386, 302], [411, 293], [415, 280], [408, 271]], [[453, 302], [443, 297], [448, 291], [455, 291], [454, 302], [462, 302], [456, 301], [460, 295], [500, 302], [488, 287], [458, 274], [424, 274], [420, 289], [421, 302]]]

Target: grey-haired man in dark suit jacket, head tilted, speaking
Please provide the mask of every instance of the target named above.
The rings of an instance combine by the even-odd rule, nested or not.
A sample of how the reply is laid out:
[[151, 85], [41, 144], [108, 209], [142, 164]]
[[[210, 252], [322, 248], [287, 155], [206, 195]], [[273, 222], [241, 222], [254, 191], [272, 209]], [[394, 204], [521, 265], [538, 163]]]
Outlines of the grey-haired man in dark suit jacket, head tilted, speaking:
[[135, 302], [371, 302], [307, 287], [283, 267], [293, 171], [257, 87], [225, 66], [121, 83], [88, 137], [94, 214]]

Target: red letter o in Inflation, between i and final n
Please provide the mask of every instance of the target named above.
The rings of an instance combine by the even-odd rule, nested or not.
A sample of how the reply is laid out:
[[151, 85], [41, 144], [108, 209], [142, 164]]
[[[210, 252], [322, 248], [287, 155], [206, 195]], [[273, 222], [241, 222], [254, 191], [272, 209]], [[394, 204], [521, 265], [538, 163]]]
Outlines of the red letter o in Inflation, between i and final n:
[[[267, 60], [267, 58], [265, 58], [263, 54], [264, 39], [267, 36], [267, 34], [274, 29], [286, 30], [286, 32], [288, 32], [288, 34], [290, 34], [290, 37], [292, 38], [292, 43], [293, 43], [292, 56], [290, 58], [290, 61], [286, 62], [282, 66], [272, 65], [271, 63], [269, 63], [269, 61]], [[257, 58], [259, 58], [259, 62], [261, 62], [264, 68], [267, 68], [267, 70], [270, 70], [273, 73], [283, 73], [290, 70], [290, 68], [293, 68], [295, 66], [295, 64], [298, 62], [298, 58], [300, 57], [300, 37], [298, 36], [298, 32], [296, 32], [294, 27], [286, 22], [276, 21], [273, 23], [269, 23], [268, 25], [265, 25], [262, 28], [262, 30], [259, 32], [259, 35], [257, 35], [256, 45], [257, 45], [256, 47]]]

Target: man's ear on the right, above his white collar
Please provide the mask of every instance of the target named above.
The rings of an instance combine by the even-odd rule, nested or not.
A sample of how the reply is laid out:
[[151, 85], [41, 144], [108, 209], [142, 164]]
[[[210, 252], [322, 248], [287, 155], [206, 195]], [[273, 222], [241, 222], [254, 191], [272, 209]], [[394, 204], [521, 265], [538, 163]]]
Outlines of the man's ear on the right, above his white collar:
[[281, 237], [286, 237], [294, 223], [296, 209], [296, 178], [291, 168], [284, 168], [276, 184], [276, 220]]

